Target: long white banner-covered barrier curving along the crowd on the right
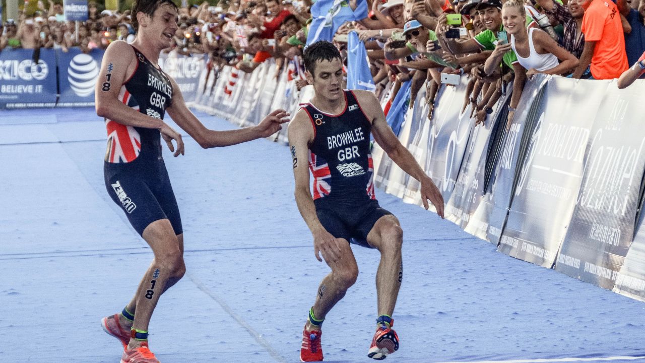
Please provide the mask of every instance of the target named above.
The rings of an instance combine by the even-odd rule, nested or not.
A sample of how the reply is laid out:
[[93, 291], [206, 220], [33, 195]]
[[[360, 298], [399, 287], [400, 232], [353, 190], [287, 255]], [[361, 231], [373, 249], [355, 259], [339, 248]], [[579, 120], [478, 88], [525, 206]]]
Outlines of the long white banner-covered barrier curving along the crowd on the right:
[[[195, 107], [240, 126], [277, 107], [295, 114], [313, 94], [311, 86], [297, 90], [289, 74], [272, 61], [252, 74], [211, 70]], [[501, 253], [645, 301], [645, 134], [631, 119], [645, 83], [619, 90], [615, 81], [539, 75], [508, 127], [512, 84], [475, 127], [466, 81], [442, 85], [430, 119], [426, 88], [410, 107], [404, 83], [386, 116], [439, 187], [446, 219]], [[286, 143], [286, 127], [273, 139]], [[377, 187], [422, 205], [419, 182], [377, 144], [372, 158]]]

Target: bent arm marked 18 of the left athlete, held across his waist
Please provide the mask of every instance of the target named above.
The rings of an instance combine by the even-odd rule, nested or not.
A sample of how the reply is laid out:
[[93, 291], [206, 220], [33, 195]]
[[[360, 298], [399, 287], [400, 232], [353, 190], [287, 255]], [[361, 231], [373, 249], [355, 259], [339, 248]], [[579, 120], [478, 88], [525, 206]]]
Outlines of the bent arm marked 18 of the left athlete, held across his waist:
[[[175, 156], [184, 154], [184, 143], [177, 131], [166, 125], [162, 119], [142, 114], [119, 100], [123, 83], [137, 69], [135, 57], [132, 47], [124, 41], [114, 41], [105, 50], [103, 61], [101, 61], [101, 71], [94, 89], [96, 114], [127, 126], [158, 129], [164, 140], [168, 142], [170, 150], [175, 151]], [[170, 140], [177, 142], [177, 150], [174, 150]]]

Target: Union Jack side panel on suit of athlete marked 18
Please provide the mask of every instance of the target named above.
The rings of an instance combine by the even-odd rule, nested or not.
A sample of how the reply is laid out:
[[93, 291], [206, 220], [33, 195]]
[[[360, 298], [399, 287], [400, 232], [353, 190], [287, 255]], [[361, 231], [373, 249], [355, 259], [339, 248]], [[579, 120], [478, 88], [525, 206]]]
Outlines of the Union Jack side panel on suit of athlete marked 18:
[[[121, 87], [119, 101], [132, 109], [139, 110], [137, 101], [126, 90]], [[105, 160], [110, 163], [129, 163], [139, 156], [141, 152], [141, 136], [132, 126], [126, 126], [111, 119], [105, 119], [105, 127], [108, 131], [108, 150]]]

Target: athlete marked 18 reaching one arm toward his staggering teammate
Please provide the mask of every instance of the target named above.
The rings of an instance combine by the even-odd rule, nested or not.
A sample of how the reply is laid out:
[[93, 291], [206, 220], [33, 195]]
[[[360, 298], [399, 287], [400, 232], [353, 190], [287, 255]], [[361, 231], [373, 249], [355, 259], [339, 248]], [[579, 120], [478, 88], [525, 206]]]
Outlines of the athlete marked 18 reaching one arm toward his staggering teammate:
[[206, 129], [186, 107], [174, 79], [157, 65], [161, 50], [173, 43], [177, 6], [171, 0], [138, 0], [131, 14], [137, 37], [132, 45], [114, 41], [107, 48], [95, 89], [96, 113], [105, 118], [108, 132], [105, 186], [152, 248], [154, 260], [122, 313], [103, 318], [101, 324], [121, 340], [121, 363], [157, 363], [148, 349], [150, 316], [159, 296], [186, 271], [181, 218], [159, 136], [174, 156], [184, 154], [184, 143], [164, 123], [164, 114], [167, 111], [203, 148], [270, 136], [288, 121], [288, 114], [275, 110], [259, 125], [246, 129]]

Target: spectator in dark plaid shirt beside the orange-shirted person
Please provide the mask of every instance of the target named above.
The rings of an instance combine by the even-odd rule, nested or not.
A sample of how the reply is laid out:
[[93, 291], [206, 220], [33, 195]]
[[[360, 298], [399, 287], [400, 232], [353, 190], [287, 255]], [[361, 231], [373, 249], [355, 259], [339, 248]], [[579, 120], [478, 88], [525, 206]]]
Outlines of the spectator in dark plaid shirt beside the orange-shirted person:
[[554, 0], [536, 0], [547, 15], [553, 16], [564, 27], [560, 45], [576, 58], [582, 56], [584, 34], [582, 34], [582, 17], [584, 8], [581, 0], [569, 0], [567, 5]]

